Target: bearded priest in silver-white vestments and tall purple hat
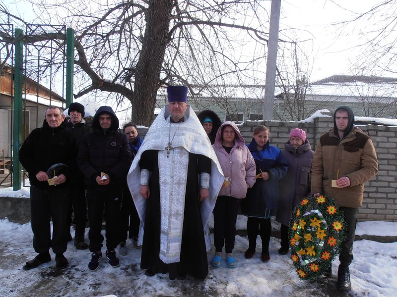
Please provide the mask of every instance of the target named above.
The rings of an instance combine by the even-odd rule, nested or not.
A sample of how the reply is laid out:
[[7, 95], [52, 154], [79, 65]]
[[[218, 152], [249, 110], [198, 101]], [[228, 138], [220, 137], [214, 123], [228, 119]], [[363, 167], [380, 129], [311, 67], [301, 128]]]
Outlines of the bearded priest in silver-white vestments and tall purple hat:
[[140, 267], [170, 280], [208, 274], [212, 245], [208, 220], [224, 181], [211, 143], [193, 109], [188, 88], [167, 88], [168, 102], [147, 132], [128, 185], [143, 225]]

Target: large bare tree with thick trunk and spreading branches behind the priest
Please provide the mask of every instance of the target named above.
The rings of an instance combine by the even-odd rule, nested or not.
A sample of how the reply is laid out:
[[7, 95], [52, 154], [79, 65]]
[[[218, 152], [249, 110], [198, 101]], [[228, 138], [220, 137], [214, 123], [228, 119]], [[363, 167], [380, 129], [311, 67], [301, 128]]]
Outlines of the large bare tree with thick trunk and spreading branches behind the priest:
[[[195, 97], [202, 90], [192, 85], [227, 84], [235, 75], [248, 80], [265, 56], [269, 1], [31, 1], [37, 21], [75, 29], [74, 98], [99, 91], [127, 98], [132, 121], [146, 126], [160, 87], [184, 84]], [[21, 21], [4, 5], [0, 13], [2, 21]], [[56, 40], [62, 48], [66, 36], [27, 32], [25, 39]], [[1, 41], [11, 42], [4, 35]]]

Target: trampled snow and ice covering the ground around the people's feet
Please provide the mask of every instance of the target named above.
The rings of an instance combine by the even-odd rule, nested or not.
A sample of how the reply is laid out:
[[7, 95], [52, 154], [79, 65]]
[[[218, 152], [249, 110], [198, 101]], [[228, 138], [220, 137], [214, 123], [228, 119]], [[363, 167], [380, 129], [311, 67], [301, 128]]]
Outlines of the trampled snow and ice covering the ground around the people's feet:
[[[240, 224], [244, 224], [240, 222]], [[397, 223], [365, 222], [360, 229], [376, 235], [396, 234]], [[88, 232], [88, 230], [87, 230]], [[252, 259], [244, 258], [248, 246], [246, 237], [236, 236], [234, 249], [238, 266], [228, 269], [225, 261], [221, 268], [209, 266], [204, 281], [188, 276], [185, 281], [170, 281], [168, 275], [144, 275], [139, 268], [140, 250], [132, 248], [121, 256], [120, 266], [111, 268], [102, 260], [98, 270], [87, 269], [90, 252], [76, 250], [72, 242], [65, 253], [69, 267], [56, 270], [53, 261], [30, 271], [22, 266], [35, 256], [30, 224], [14, 224], [0, 220], [0, 296], [396, 296], [397, 243], [378, 243], [368, 240], [354, 243], [354, 261], [350, 266], [352, 291], [339, 294], [335, 289], [338, 261], [333, 261], [330, 282], [316, 284], [299, 280], [287, 255], [279, 255], [279, 240], [270, 240], [270, 261], [261, 261], [261, 241]], [[87, 233], [86, 233], [87, 237]], [[105, 251], [105, 248], [102, 249]], [[194, 255], [192, 255], [194, 256]], [[208, 253], [208, 261], [212, 252]]]

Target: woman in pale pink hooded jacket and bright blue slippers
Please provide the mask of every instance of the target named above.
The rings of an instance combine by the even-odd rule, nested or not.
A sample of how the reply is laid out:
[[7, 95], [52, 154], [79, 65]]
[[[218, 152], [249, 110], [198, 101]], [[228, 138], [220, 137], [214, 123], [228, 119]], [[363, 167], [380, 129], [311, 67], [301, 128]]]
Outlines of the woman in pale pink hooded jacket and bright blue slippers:
[[235, 268], [237, 262], [232, 251], [237, 212], [241, 199], [247, 194], [247, 189], [255, 184], [256, 166], [244, 138], [233, 122], [226, 121], [219, 127], [212, 147], [218, 157], [225, 182], [214, 208], [215, 255], [211, 265], [221, 266], [222, 249], [225, 246], [227, 267]]

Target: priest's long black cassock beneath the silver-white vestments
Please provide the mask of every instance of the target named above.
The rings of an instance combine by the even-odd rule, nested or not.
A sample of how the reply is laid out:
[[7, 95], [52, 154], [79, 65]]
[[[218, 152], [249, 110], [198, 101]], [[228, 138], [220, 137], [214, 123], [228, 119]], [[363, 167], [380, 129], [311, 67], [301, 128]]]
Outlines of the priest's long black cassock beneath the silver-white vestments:
[[151, 171], [150, 198], [146, 202], [146, 217], [140, 268], [151, 268], [154, 273], [169, 272], [170, 278], [189, 273], [198, 279], [208, 274], [207, 252], [199, 202], [199, 174], [211, 173], [211, 159], [189, 153], [188, 176], [185, 193], [185, 213], [182, 229], [180, 262], [165, 264], [160, 260], [160, 188], [158, 150], [146, 150], [139, 160], [140, 169]]

